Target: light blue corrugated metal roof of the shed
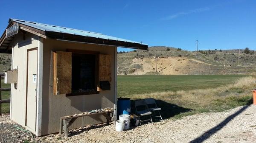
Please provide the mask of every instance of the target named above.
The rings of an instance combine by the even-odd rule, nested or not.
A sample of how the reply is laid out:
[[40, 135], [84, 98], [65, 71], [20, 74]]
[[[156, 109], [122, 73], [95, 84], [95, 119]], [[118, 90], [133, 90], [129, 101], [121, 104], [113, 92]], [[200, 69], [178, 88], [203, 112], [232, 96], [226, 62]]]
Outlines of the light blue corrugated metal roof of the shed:
[[25, 20], [16, 20], [16, 19], [10, 19], [10, 21], [18, 22], [23, 25], [27, 25], [36, 29], [39, 29], [41, 31], [49, 31], [49, 32], [58, 32], [58, 33], [64, 33], [64, 34], [73, 34], [73, 35], [79, 35], [79, 36], [87, 36], [87, 37], [94, 37], [94, 38], [100, 38], [100, 39], [107, 39], [107, 40], [115, 40], [115, 41], [123, 41], [123, 42], [131, 42], [131, 43], [137, 43], [141, 45], [147, 45], [142, 42], [135, 42], [127, 39], [117, 38], [113, 36], [108, 36], [105, 34], [90, 32], [90, 31], [84, 31], [84, 30], [78, 30], [73, 28], [66, 28], [56, 25], [49, 25], [49, 24], [43, 24], [38, 22], [31, 22], [31, 21], [25, 21]]

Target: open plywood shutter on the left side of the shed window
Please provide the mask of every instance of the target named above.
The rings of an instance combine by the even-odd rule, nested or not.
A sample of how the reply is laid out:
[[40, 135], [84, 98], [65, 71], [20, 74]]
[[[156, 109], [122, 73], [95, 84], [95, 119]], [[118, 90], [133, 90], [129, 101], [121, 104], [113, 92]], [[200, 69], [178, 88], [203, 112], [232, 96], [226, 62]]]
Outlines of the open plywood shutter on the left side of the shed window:
[[53, 52], [53, 94], [71, 93], [72, 53]]

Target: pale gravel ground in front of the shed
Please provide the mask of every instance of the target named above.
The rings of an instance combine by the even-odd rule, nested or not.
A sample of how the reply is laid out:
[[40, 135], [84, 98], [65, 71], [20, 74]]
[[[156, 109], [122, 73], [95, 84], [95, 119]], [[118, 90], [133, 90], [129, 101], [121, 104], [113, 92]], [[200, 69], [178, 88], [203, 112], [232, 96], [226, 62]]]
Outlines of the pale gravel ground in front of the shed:
[[[243, 106], [225, 112], [202, 113], [169, 119], [116, 132], [113, 125], [71, 130], [71, 137], [58, 134], [31, 137], [17, 130], [8, 115], [0, 117], [0, 142], [30, 140], [42, 143], [256, 143], [256, 106]], [[9, 136], [8, 136], [9, 135]]]

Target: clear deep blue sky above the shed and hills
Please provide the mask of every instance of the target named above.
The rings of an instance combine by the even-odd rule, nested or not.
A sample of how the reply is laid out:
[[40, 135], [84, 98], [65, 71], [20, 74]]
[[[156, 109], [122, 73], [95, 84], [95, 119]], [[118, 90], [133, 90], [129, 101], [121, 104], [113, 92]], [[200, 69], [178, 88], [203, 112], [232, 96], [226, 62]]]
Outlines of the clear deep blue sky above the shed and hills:
[[[9, 18], [99, 32], [149, 46], [256, 50], [256, 0], [0, 1]], [[131, 50], [119, 48], [119, 50]]]

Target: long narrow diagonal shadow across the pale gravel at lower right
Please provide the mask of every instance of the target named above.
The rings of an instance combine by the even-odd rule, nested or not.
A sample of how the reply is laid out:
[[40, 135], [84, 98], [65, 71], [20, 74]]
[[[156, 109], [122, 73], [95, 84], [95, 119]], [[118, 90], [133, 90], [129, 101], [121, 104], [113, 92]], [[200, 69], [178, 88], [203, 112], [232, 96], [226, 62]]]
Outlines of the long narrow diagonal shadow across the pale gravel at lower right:
[[239, 111], [235, 112], [234, 114], [228, 116], [224, 121], [219, 123], [217, 126], [213, 127], [212, 129], [209, 129], [207, 132], [205, 132], [203, 135], [197, 137], [195, 140], [190, 141], [189, 143], [202, 143], [205, 140], [207, 140], [210, 136], [218, 132], [218, 130], [222, 129], [224, 126], [227, 125], [233, 118], [235, 118], [237, 115], [241, 114], [245, 109], [247, 109], [249, 105], [242, 107], [239, 109]]

